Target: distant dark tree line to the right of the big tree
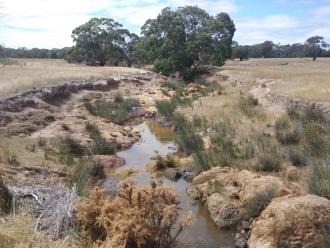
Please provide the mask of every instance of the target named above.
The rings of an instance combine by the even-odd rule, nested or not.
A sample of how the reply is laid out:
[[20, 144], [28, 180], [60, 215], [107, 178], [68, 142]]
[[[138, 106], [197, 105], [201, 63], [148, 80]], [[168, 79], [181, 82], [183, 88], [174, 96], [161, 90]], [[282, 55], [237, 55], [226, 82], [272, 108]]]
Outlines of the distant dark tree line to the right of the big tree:
[[288, 45], [265, 41], [255, 45], [239, 45], [233, 42], [233, 58], [246, 60], [248, 58], [302, 58], [330, 57], [329, 44], [321, 36], [313, 36], [305, 43]]

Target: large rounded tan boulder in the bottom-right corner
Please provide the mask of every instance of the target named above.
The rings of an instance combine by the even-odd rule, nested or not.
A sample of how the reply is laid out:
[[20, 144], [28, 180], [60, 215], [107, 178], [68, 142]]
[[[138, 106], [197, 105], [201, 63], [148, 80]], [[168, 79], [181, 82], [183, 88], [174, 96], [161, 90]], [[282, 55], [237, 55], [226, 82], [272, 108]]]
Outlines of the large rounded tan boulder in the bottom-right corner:
[[316, 195], [275, 198], [252, 224], [249, 247], [321, 247], [330, 233], [330, 200]]

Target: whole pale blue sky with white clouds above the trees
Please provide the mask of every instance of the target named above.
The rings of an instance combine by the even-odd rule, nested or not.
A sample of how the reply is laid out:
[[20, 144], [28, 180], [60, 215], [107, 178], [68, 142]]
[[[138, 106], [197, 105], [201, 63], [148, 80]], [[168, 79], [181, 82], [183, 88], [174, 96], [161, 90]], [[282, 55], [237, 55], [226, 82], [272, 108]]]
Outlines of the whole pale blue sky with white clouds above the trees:
[[0, 43], [8, 47], [71, 46], [71, 31], [91, 17], [111, 17], [139, 34], [148, 18], [166, 6], [198, 5], [210, 14], [227, 12], [240, 44], [264, 40], [303, 42], [321, 35], [330, 42], [330, 0], [0, 0], [5, 17]]

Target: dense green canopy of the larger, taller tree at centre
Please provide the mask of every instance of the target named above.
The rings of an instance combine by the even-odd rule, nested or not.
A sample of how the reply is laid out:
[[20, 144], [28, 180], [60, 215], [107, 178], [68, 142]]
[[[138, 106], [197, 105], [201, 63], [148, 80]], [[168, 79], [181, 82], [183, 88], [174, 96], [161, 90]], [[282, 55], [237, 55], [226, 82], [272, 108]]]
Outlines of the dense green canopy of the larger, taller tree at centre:
[[191, 75], [200, 67], [223, 65], [231, 57], [235, 25], [228, 14], [211, 16], [197, 6], [165, 8], [142, 27], [135, 55], [146, 55], [155, 70]]

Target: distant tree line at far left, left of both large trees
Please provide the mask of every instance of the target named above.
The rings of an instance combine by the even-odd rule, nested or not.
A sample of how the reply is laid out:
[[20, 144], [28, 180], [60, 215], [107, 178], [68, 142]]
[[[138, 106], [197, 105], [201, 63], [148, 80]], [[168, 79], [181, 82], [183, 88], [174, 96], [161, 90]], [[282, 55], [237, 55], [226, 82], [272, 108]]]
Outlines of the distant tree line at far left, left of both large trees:
[[70, 48], [28, 49], [25, 47], [7, 48], [0, 46], [0, 56], [8, 58], [64, 59], [69, 49]]

